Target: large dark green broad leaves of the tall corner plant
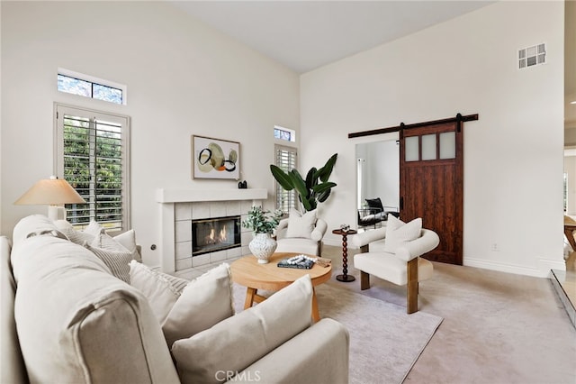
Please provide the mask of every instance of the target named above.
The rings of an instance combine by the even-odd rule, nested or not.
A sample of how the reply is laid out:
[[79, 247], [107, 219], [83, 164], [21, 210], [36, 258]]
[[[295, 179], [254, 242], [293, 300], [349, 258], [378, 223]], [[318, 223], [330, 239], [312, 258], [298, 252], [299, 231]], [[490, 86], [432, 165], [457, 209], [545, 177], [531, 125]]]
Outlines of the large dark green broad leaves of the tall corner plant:
[[324, 167], [320, 169], [312, 167], [306, 174], [306, 178], [302, 178], [297, 169], [285, 172], [274, 164], [270, 164], [270, 170], [281, 187], [287, 191], [296, 190], [304, 212], [310, 212], [316, 209], [318, 203], [325, 202], [332, 188], [336, 187], [337, 184], [329, 181], [329, 178], [337, 158], [338, 153], [334, 153]]

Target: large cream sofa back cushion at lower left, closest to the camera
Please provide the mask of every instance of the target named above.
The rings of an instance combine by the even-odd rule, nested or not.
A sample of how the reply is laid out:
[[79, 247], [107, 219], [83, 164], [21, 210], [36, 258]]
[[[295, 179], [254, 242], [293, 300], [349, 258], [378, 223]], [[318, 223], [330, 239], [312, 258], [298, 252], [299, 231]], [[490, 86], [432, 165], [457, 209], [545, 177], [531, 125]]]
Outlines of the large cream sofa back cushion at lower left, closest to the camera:
[[14, 316], [31, 382], [178, 381], [148, 300], [94, 253], [34, 236], [14, 243], [12, 262]]

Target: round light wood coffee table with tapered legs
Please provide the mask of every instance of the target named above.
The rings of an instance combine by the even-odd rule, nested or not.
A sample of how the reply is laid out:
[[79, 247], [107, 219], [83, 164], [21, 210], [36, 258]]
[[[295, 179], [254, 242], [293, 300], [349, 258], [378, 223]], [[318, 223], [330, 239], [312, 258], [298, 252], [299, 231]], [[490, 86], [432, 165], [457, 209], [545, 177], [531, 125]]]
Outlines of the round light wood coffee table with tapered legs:
[[266, 300], [266, 297], [257, 294], [258, 289], [278, 291], [288, 287], [296, 279], [302, 278], [304, 275], [310, 275], [312, 280], [312, 318], [315, 322], [320, 320], [314, 287], [330, 279], [332, 276], [332, 265], [320, 267], [320, 265], [314, 264], [310, 270], [280, 268], [276, 265], [278, 261], [291, 258], [297, 254], [300, 253], [278, 252], [272, 255], [267, 264], [258, 264], [257, 258], [250, 255], [230, 264], [232, 280], [247, 287], [244, 309], [251, 307], [254, 303], [261, 303]]

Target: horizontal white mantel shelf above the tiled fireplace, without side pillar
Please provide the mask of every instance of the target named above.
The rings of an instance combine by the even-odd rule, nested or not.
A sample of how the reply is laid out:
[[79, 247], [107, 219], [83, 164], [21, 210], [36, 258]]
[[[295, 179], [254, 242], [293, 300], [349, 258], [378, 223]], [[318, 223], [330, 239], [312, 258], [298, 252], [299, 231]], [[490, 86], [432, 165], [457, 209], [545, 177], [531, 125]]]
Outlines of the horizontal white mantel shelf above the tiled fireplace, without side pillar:
[[158, 203], [190, 203], [201, 201], [266, 200], [266, 188], [250, 189], [164, 189], [156, 190]]

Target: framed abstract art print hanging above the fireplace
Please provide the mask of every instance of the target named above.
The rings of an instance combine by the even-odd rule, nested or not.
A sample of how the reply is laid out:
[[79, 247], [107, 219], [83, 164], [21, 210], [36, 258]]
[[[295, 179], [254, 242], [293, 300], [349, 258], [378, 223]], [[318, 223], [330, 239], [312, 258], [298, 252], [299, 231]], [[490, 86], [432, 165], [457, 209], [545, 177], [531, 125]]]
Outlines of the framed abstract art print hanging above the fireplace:
[[240, 143], [192, 135], [192, 178], [240, 178]]

